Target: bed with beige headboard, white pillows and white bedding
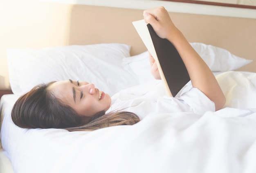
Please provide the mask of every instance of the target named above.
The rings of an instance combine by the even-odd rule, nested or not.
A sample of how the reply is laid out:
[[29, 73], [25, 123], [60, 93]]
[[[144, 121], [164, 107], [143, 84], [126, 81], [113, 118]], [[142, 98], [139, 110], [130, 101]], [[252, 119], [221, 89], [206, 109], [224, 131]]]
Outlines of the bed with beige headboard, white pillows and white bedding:
[[[227, 102], [217, 112], [150, 113], [135, 125], [96, 131], [21, 129], [11, 120], [11, 108], [21, 94], [38, 83], [85, 80], [112, 96], [154, 80], [146, 48], [131, 23], [142, 19], [143, 10], [33, 3], [35, 8], [43, 6], [46, 10], [50, 4], [51, 8], [71, 12], [68, 42], [40, 42], [39, 46], [7, 50], [14, 94], [6, 94], [0, 100], [0, 171], [256, 172], [256, 71], [252, 61], [255, 49], [251, 45], [255, 42], [251, 28], [255, 26], [254, 19], [170, 13], [220, 83]], [[108, 15], [102, 17], [99, 13]], [[110, 20], [106, 22], [106, 18]], [[198, 26], [201, 23], [200, 28], [195, 22]], [[237, 22], [244, 25], [237, 26]], [[99, 23], [104, 27], [90, 27]], [[247, 32], [252, 29], [252, 35], [237, 34], [231, 39], [229, 34], [235, 31], [223, 33], [234, 26]], [[214, 31], [217, 33], [210, 34]], [[244, 45], [245, 40], [251, 44]]]

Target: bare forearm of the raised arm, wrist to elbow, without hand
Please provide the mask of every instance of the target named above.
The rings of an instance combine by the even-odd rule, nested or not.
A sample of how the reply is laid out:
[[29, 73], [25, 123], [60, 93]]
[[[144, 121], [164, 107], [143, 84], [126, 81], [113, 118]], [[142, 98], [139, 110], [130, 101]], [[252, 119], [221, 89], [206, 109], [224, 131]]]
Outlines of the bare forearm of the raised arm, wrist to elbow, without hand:
[[193, 87], [198, 88], [213, 101], [216, 110], [221, 109], [226, 101], [225, 96], [215, 76], [200, 55], [192, 48], [178, 29], [174, 29], [173, 33], [167, 35], [166, 39], [172, 42], [179, 52], [188, 70]]

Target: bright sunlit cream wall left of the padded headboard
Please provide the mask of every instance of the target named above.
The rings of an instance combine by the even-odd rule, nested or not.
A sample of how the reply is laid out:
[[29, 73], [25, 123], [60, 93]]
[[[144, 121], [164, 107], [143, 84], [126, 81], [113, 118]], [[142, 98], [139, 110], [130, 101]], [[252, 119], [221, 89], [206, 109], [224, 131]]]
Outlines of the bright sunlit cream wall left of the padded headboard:
[[10, 89], [7, 48], [66, 45], [71, 8], [34, 0], [0, 0], [0, 90]]

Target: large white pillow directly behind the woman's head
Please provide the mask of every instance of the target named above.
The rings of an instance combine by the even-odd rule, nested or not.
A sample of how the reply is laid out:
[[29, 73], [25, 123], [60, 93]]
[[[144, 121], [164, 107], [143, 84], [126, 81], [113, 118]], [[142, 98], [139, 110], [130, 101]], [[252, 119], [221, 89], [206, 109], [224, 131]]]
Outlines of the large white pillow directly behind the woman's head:
[[94, 83], [112, 96], [138, 83], [121, 66], [129, 56], [130, 46], [118, 43], [8, 49], [11, 90], [21, 95], [39, 83], [72, 79]]

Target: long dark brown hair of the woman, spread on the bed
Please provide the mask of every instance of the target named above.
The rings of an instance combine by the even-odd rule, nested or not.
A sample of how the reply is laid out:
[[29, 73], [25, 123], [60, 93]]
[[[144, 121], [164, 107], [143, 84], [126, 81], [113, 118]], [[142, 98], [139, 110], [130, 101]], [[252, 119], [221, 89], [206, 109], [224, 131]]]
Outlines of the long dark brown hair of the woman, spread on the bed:
[[115, 125], [133, 125], [139, 117], [132, 112], [98, 112], [92, 118], [79, 115], [47, 90], [54, 82], [34, 87], [13, 105], [11, 118], [22, 128], [61, 128], [69, 131], [92, 131]]

